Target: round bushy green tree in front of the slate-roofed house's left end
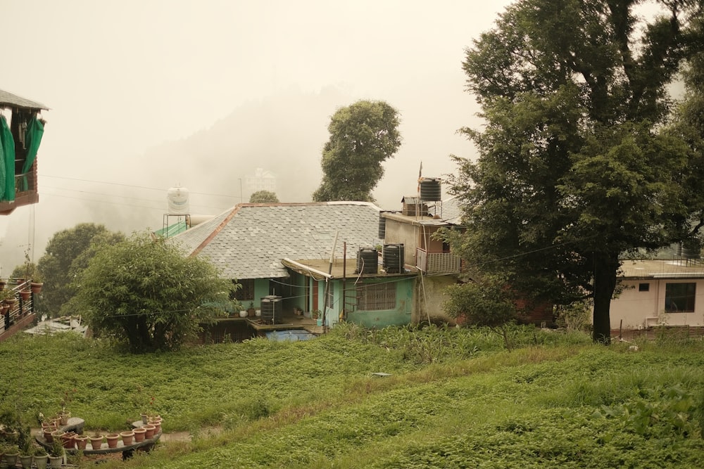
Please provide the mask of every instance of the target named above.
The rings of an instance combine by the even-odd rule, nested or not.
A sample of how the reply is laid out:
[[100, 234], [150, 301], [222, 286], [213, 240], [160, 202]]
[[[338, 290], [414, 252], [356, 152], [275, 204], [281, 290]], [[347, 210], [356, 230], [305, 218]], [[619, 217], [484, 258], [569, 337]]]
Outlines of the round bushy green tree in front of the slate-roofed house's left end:
[[70, 307], [98, 334], [127, 340], [132, 352], [175, 350], [225, 304], [232, 282], [213, 264], [148, 233], [96, 250], [73, 287]]

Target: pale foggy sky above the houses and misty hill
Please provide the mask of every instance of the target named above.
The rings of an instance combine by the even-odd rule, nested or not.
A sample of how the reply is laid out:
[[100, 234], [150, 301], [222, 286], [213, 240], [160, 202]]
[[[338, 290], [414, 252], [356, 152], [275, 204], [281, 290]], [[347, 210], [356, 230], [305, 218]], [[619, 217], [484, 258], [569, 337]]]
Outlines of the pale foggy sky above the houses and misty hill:
[[[479, 124], [464, 49], [508, 4], [0, 0], [0, 89], [51, 108], [37, 158], [40, 202], [0, 219], [0, 275], [22, 262], [21, 246], [32, 244], [36, 260], [51, 235], [83, 221], [125, 233], [161, 228], [175, 184], [189, 188], [199, 213], [239, 203], [244, 169], [265, 160], [258, 148], [280, 157], [265, 169], [306, 174], [285, 184], [298, 200], [279, 198], [310, 200], [329, 117], [360, 98], [401, 113], [403, 145], [375, 191], [379, 206], [400, 208], [421, 161], [424, 176], [442, 176], [455, 170], [449, 154], [474, 156], [455, 133]], [[248, 110], [267, 106], [299, 120], [295, 131], [244, 125]], [[216, 145], [218, 132], [233, 139], [224, 122], [237, 119], [246, 151], [188, 146], [199, 135]]]

